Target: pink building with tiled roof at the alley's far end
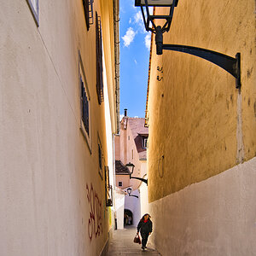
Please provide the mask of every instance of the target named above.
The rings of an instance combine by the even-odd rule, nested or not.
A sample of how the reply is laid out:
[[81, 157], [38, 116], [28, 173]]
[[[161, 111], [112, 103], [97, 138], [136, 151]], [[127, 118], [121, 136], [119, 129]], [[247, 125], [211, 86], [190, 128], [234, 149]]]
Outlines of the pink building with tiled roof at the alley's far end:
[[[120, 121], [119, 135], [114, 139], [116, 186], [126, 192], [128, 188], [131, 188], [131, 195], [138, 196], [137, 198], [125, 195], [125, 213], [130, 217], [132, 215], [132, 224], [134, 225], [141, 218], [148, 203], [148, 189], [146, 183], [138, 179], [130, 179], [130, 172], [125, 165], [132, 163], [135, 166], [131, 177], [147, 179], [148, 127], [145, 127], [144, 123], [145, 119], [143, 118], [128, 117], [127, 110], [125, 110], [125, 116]], [[143, 193], [141, 193], [141, 189], [143, 189]]]

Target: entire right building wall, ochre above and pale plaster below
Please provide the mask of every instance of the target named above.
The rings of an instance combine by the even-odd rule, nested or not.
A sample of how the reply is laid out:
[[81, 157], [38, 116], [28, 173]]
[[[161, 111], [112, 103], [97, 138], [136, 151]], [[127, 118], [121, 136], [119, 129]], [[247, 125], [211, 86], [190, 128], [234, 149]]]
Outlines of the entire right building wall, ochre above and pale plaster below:
[[255, 252], [255, 207], [246, 207], [256, 182], [255, 21], [253, 0], [180, 0], [163, 35], [164, 44], [240, 52], [241, 91], [211, 62], [170, 50], [156, 55], [152, 38], [148, 197], [163, 255]]

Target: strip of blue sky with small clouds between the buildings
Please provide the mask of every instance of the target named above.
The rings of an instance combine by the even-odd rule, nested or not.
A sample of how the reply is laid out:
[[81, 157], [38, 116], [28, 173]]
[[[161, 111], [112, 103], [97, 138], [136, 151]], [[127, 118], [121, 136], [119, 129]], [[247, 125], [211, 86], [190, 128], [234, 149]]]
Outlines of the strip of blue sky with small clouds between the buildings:
[[151, 33], [146, 32], [134, 0], [119, 0], [120, 114], [144, 117]]

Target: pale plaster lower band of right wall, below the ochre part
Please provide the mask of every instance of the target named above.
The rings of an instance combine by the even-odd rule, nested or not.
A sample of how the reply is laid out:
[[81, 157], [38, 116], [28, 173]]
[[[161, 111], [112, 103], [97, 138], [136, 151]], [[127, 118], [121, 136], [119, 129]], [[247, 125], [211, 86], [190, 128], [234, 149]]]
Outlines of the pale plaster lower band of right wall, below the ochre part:
[[256, 158], [150, 203], [161, 255], [256, 254]]

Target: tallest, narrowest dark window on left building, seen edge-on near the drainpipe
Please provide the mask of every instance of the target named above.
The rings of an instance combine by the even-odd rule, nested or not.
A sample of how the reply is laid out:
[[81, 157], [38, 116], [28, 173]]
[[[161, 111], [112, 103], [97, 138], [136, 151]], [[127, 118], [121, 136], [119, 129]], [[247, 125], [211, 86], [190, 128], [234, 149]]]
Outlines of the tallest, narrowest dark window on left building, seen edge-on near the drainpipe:
[[101, 104], [103, 97], [103, 67], [102, 67], [102, 22], [96, 13], [96, 91], [98, 102]]

